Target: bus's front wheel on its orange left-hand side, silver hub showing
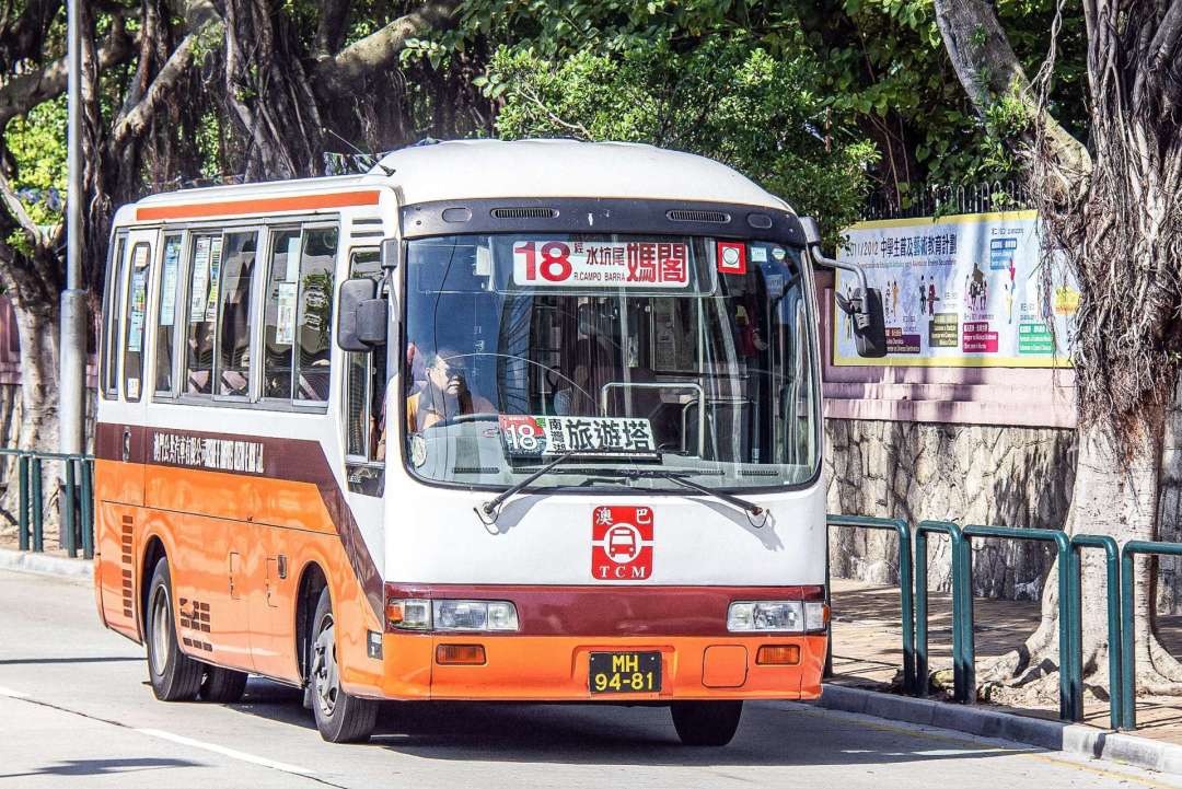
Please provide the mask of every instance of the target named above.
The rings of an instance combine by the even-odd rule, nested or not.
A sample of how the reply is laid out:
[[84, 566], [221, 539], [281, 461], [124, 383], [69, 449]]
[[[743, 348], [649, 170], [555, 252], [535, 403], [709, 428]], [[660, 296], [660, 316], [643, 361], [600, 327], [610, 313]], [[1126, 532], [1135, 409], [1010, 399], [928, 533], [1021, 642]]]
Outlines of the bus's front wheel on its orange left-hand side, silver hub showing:
[[312, 715], [320, 736], [330, 743], [363, 743], [374, 733], [377, 702], [350, 696], [340, 687], [337, 643], [329, 587], [320, 589], [309, 639], [307, 682]]

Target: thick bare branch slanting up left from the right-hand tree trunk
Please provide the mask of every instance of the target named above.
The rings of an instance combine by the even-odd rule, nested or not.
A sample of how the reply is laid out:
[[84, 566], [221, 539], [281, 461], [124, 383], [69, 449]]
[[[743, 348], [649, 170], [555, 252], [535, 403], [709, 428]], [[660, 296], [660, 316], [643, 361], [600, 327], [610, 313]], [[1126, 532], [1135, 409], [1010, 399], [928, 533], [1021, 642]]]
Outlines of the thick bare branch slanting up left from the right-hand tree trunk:
[[[944, 48], [978, 113], [985, 117], [1001, 97], [1018, 99], [1030, 117], [1043, 124], [1045, 142], [1063, 170], [1090, 172], [1091, 157], [1084, 144], [1039, 106], [992, 0], [935, 0], [935, 6]], [[1007, 142], [1020, 149], [1030, 141]]]

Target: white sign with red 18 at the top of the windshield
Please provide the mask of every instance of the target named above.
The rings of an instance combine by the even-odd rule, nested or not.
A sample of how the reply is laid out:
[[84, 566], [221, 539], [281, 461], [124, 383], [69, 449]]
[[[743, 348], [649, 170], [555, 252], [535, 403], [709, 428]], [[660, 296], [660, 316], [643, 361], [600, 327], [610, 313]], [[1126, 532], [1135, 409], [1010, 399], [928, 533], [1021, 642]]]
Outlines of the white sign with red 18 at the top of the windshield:
[[673, 241], [519, 241], [513, 244], [513, 283], [688, 288], [689, 246]]

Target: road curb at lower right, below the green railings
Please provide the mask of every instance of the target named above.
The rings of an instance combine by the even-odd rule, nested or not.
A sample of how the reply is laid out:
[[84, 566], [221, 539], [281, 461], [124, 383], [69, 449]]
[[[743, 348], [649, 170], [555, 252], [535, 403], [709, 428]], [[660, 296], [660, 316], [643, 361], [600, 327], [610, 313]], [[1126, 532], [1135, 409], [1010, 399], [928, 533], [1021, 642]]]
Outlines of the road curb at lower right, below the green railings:
[[1074, 723], [1031, 718], [979, 706], [895, 696], [843, 685], [825, 685], [817, 705], [827, 710], [952, 729], [978, 737], [1009, 739], [1086, 758], [1182, 775], [1182, 745]]

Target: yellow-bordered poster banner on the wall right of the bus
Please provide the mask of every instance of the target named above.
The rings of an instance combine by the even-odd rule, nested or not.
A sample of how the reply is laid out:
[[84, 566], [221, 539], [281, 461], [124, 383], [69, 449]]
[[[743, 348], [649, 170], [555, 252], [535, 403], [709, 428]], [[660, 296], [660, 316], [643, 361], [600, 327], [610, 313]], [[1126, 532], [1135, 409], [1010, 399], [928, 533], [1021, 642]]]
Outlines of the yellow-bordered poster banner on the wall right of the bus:
[[[833, 306], [834, 365], [1066, 367], [1079, 292], [1059, 269], [1044, 286], [1035, 211], [859, 222], [842, 260], [865, 268], [883, 296], [886, 356], [858, 356], [850, 318]], [[858, 279], [839, 270], [849, 296]]]

